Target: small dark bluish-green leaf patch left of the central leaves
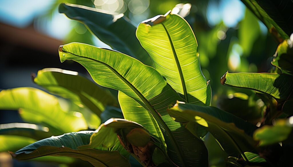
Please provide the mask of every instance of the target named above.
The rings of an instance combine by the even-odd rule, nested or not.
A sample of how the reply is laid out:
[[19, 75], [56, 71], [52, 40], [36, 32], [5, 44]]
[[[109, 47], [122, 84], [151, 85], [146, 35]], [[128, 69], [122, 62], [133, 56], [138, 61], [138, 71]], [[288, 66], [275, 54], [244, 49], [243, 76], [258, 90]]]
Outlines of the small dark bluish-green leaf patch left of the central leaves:
[[114, 106], [106, 106], [105, 110], [101, 113], [101, 121], [105, 123], [110, 118], [124, 118], [121, 109]]

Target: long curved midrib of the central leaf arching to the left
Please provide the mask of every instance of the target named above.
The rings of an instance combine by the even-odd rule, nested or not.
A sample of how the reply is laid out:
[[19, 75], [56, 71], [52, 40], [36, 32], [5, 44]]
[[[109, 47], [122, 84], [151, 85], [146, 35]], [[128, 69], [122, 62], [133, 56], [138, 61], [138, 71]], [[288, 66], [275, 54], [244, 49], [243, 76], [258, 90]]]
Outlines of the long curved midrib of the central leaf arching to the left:
[[183, 154], [181, 152], [181, 149], [177, 143], [177, 140], [175, 139], [174, 135], [172, 134], [171, 130], [168, 128], [168, 126], [166, 125], [166, 123], [163, 121], [163, 119], [159, 116], [159, 114], [157, 113], [157, 111], [151, 106], [151, 104], [149, 104], [149, 101], [128, 81], [126, 80], [120, 73], [118, 73], [114, 68], [112, 68], [111, 66], [109, 66], [106, 63], [103, 63], [101, 61], [95, 60], [93, 58], [89, 58], [89, 57], [84, 57], [84, 56], [79, 56], [67, 51], [64, 51], [62, 49], [63, 52], [72, 54], [74, 56], [78, 56], [78, 57], [82, 57], [82, 58], [88, 58], [90, 60], [96, 61], [98, 63], [103, 64], [104, 66], [106, 66], [107, 68], [109, 68], [111, 71], [113, 71], [113, 73], [115, 73], [122, 81], [124, 81], [136, 94], [137, 96], [144, 102], [144, 104], [147, 106], [147, 108], [150, 110], [150, 112], [152, 113], [152, 115], [154, 116], [154, 118], [163, 126], [164, 130], [166, 131], [166, 133], [168, 134], [168, 136], [170, 137], [173, 146], [176, 149], [176, 152], [178, 154], [178, 158], [180, 159], [180, 162], [182, 164], [183, 167], [185, 167], [185, 161], [183, 160]]

